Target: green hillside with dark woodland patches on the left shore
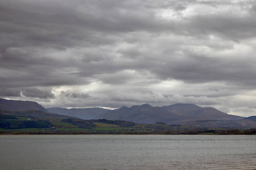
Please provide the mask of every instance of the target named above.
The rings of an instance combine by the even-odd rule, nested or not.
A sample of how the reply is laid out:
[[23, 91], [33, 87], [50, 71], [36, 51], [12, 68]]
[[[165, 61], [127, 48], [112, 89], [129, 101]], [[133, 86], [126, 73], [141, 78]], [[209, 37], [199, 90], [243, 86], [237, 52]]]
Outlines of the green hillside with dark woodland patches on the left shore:
[[0, 109], [0, 133], [14, 134], [90, 134], [124, 131], [133, 122], [82, 120], [42, 111], [5, 111]]

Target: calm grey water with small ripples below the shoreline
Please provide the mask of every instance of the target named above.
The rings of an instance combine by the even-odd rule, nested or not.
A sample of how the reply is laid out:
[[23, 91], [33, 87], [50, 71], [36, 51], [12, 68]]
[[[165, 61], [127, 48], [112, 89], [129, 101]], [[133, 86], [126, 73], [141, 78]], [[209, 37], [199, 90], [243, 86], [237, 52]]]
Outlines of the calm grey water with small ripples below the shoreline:
[[0, 169], [255, 169], [255, 135], [0, 135]]

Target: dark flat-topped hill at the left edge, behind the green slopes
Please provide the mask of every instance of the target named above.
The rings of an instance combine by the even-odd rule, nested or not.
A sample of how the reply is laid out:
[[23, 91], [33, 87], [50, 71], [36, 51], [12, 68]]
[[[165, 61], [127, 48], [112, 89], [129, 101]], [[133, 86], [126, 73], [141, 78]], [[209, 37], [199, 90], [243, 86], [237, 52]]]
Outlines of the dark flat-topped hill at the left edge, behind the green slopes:
[[47, 112], [47, 109], [35, 101], [6, 100], [0, 99], [0, 108], [5, 111], [28, 111], [37, 110]]

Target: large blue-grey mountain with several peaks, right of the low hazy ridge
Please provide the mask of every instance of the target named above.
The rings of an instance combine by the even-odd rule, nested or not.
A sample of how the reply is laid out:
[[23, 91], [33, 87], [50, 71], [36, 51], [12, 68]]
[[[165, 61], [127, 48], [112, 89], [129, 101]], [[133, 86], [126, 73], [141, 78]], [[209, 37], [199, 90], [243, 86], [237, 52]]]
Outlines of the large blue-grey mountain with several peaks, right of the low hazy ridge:
[[152, 107], [150, 104], [121, 107], [101, 115], [109, 120], [125, 120], [135, 123], [164, 122], [166, 124], [186, 124], [202, 120], [239, 120], [243, 117], [223, 113], [214, 108], [201, 108], [193, 104], [174, 104]]

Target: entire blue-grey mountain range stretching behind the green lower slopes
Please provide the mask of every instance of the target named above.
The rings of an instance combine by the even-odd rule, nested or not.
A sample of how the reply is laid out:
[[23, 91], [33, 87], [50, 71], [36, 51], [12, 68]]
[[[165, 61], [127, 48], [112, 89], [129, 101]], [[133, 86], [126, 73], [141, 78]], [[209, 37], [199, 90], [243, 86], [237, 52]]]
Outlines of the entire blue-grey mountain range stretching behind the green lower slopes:
[[[104, 108], [44, 108], [34, 101], [0, 99], [0, 109], [5, 111], [37, 110], [48, 113], [78, 117], [85, 120], [102, 119], [124, 120], [135, 123], [155, 124], [191, 124], [192, 122], [243, 120], [244, 117], [230, 115], [210, 107], [199, 107], [194, 104], [173, 104], [163, 107], [152, 107], [150, 104]], [[253, 121], [250, 120], [249, 121]]]

